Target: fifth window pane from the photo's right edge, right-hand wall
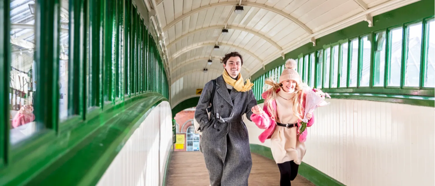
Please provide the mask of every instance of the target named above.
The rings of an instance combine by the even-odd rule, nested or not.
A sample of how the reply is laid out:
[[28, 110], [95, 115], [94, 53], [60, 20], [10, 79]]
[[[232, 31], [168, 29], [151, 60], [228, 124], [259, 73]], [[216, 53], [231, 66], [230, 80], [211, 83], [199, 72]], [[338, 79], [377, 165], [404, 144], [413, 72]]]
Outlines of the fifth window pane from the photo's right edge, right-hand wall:
[[368, 87], [370, 83], [370, 58], [371, 58], [371, 42], [368, 36], [361, 38], [362, 44], [362, 61], [361, 61], [361, 87]]

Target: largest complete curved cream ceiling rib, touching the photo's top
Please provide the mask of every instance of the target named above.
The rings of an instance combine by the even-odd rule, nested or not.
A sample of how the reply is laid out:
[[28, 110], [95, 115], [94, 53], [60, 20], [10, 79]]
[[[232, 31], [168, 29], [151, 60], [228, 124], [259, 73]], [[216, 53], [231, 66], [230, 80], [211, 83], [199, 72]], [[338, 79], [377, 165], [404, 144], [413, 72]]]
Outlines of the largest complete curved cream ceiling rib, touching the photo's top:
[[[220, 3], [211, 3], [209, 5], [203, 6], [203, 7], [199, 7], [196, 8], [194, 10], [191, 10], [190, 12], [184, 13], [183, 15], [179, 16], [177, 19], [173, 20], [171, 23], [168, 23], [164, 28], [163, 28], [163, 32], [166, 32], [169, 28], [171, 28], [172, 26], [174, 26], [175, 24], [177, 24], [178, 22], [180, 22], [181, 20], [184, 20], [186, 17], [193, 15], [194, 13], [198, 13], [201, 12], [202, 10], [207, 10], [213, 7], [221, 7], [221, 6], [235, 6], [238, 5], [239, 2], [238, 1], [228, 1], [228, 2], [220, 2]], [[249, 7], [258, 7], [258, 8], [262, 8], [265, 10], [269, 10], [271, 12], [277, 13], [281, 16], [284, 16], [285, 18], [293, 21], [294, 23], [298, 24], [299, 26], [301, 26], [303, 29], [305, 29], [305, 31], [307, 31], [307, 33], [312, 34], [313, 31], [311, 31], [310, 28], [308, 28], [308, 26], [306, 26], [304, 23], [302, 23], [300, 20], [296, 19], [295, 17], [289, 15], [288, 13], [285, 13], [282, 10], [278, 10], [274, 7], [269, 7], [265, 4], [260, 4], [260, 3], [252, 3], [252, 2], [242, 2], [241, 6], [249, 6]]]

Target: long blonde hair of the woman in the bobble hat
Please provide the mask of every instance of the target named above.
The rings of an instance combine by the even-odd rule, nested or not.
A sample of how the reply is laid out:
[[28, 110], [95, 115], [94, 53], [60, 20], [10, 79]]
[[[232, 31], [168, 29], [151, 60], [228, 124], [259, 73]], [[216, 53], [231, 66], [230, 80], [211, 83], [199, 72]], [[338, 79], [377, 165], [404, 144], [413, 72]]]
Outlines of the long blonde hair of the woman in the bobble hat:
[[[266, 104], [268, 111], [271, 114], [271, 119], [276, 121], [277, 112], [272, 107], [272, 101], [276, 99], [276, 91], [278, 88], [282, 88], [282, 83], [278, 84], [273, 78], [268, 78], [264, 81], [264, 84], [271, 86], [271, 88], [268, 89], [269, 93], [264, 100], [264, 104]], [[304, 117], [304, 109], [302, 106], [302, 101], [304, 100], [304, 86], [304, 83], [297, 83], [294, 88], [295, 95], [291, 98], [291, 102], [293, 103], [293, 114], [298, 117], [299, 120], [302, 120]]]

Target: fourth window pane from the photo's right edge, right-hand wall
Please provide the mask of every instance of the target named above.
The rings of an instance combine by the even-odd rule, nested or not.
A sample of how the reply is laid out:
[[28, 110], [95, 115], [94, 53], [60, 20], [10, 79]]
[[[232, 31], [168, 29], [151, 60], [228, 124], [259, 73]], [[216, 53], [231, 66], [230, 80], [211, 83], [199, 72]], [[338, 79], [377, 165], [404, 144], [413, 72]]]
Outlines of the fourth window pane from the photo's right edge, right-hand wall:
[[376, 39], [376, 49], [375, 49], [375, 69], [373, 86], [384, 86], [384, 74], [385, 74], [385, 31], [377, 33]]

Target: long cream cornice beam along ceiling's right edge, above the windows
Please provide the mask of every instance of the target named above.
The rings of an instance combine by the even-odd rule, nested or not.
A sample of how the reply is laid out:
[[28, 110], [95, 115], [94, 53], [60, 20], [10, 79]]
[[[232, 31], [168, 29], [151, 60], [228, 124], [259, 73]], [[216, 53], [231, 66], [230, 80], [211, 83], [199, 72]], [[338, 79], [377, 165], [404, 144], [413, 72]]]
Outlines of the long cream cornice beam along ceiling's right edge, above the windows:
[[[268, 64], [269, 62], [274, 61], [278, 57], [282, 56], [281, 54], [283, 54], [283, 53], [286, 54], [288, 52], [293, 51], [294, 49], [297, 49], [297, 48], [305, 45], [307, 42], [311, 42], [311, 40], [313, 38], [320, 38], [320, 37], [326, 36], [330, 33], [347, 28], [347, 27], [352, 26], [352, 25], [359, 23], [361, 21], [368, 21], [369, 22], [370, 20], [366, 20], [368, 15], [370, 15], [370, 17], [376, 16], [376, 15], [379, 15], [381, 13], [385, 13], [385, 12], [406, 6], [408, 4], [415, 3], [417, 1], [419, 1], [419, 0], [390, 0], [390, 1], [387, 1], [385, 3], [379, 4], [375, 7], [371, 7], [366, 11], [355, 14], [354, 16], [351, 16], [351, 17], [349, 17], [349, 18], [347, 18], [339, 23], [333, 24], [332, 26], [329, 26], [329, 27], [322, 29], [318, 32], [315, 32], [315, 33], [311, 34], [310, 36], [307, 36], [303, 39], [296, 40], [295, 42], [291, 42], [291, 43], [287, 44], [286, 46], [283, 47], [284, 49], [282, 51], [275, 52], [274, 54], [271, 54], [267, 58], [265, 58], [264, 64]], [[264, 68], [264, 67], [258, 66], [258, 65], [254, 66], [254, 68], [251, 69], [251, 72], [252, 72], [251, 75], [256, 73], [261, 68]]]

